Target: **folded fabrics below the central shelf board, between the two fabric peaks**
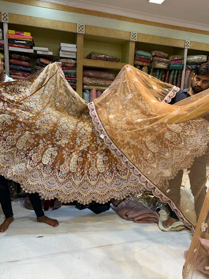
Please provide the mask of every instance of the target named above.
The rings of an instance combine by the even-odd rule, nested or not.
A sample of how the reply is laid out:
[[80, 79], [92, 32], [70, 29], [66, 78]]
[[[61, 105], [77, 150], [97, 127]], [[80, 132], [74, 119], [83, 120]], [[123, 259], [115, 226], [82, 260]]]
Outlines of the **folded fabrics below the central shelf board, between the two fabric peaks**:
[[83, 92], [82, 98], [88, 103], [101, 96], [116, 75], [114, 72], [83, 69]]

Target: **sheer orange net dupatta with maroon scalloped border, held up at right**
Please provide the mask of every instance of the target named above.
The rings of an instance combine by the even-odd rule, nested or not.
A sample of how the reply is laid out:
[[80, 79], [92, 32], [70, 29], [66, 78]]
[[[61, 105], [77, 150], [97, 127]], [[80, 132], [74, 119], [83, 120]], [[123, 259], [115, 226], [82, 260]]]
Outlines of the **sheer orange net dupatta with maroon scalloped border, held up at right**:
[[208, 111], [209, 95], [205, 90], [176, 105], [167, 104], [178, 90], [126, 65], [88, 107], [104, 142], [139, 178], [139, 184], [168, 203], [193, 230], [196, 217], [192, 197], [179, 205], [176, 189], [169, 189], [166, 180], [205, 153], [208, 122], [200, 116]]

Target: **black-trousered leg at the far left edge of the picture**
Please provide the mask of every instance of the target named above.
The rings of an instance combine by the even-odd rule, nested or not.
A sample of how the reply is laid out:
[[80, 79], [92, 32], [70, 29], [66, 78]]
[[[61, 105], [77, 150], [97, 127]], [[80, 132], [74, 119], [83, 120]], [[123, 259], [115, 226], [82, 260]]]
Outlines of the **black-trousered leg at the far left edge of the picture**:
[[5, 221], [0, 225], [0, 232], [5, 232], [9, 225], [14, 221], [14, 218], [8, 179], [2, 175], [0, 175], [0, 204], [5, 214]]

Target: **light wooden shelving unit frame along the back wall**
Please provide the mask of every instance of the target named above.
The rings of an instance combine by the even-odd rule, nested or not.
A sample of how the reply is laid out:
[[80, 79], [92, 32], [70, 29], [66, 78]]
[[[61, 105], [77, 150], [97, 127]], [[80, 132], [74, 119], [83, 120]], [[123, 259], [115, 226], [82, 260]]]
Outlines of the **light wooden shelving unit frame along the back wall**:
[[[77, 33], [77, 24], [62, 22], [57, 20], [41, 19], [37, 17], [9, 14], [9, 23], [0, 23], [0, 28], [4, 29], [7, 37], [8, 29], [24, 30], [31, 32], [36, 46], [48, 47], [54, 53], [54, 57], [49, 60], [57, 60], [60, 42], [77, 44], [77, 86], [76, 91], [82, 97], [82, 73], [83, 67], [107, 69], [116, 74], [126, 65], [134, 65], [135, 50], [153, 51], [159, 50], [170, 55], [183, 55], [184, 62], [186, 56], [191, 54], [208, 54], [209, 44], [190, 42], [190, 48], [185, 49], [185, 41], [159, 37], [148, 34], [137, 33], [137, 41], [131, 41], [131, 32], [116, 29], [107, 29], [96, 26], [85, 25], [85, 34]], [[27, 23], [27, 25], [25, 25]], [[6, 26], [7, 25], [7, 26]], [[9, 74], [9, 51], [8, 44], [5, 44], [5, 69]], [[107, 55], [120, 58], [122, 62], [111, 62], [103, 60], [86, 59], [90, 52], [105, 53]], [[205, 53], [206, 52], [206, 53]], [[34, 60], [35, 54], [30, 55]], [[185, 67], [183, 70], [185, 73]], [[184, 75], [182, 74], [182, 81]]]

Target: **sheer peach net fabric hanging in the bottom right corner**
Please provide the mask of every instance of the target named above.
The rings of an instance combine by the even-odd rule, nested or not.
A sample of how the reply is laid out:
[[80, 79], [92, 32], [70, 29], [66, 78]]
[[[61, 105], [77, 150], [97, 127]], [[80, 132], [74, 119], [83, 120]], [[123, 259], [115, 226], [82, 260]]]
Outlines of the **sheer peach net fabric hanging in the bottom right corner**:
[[186, 261], [183, 268], [183, 279], [192, 278], [193, 275], [198, 276], [200, 273], [204, 274], [207, 278], [209, 277], [208, 213], [209, 192], [207, 191], [190, 247], [184, 253]]

